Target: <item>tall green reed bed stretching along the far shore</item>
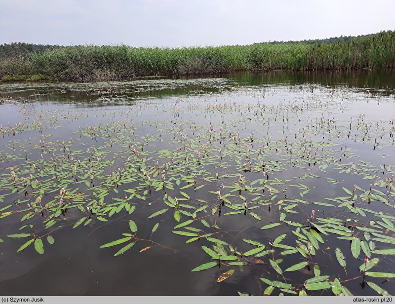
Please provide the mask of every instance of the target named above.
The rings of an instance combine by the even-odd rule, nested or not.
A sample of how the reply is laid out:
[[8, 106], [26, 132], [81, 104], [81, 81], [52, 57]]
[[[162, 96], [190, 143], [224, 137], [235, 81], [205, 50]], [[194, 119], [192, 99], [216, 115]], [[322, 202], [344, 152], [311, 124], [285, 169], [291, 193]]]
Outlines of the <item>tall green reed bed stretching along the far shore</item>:
[[219, 47], [66, 46], [0, 59], [0, 79], [120, 80], [233, 71], [393, 68], [395, 32], [333, 43], [257, 43]]

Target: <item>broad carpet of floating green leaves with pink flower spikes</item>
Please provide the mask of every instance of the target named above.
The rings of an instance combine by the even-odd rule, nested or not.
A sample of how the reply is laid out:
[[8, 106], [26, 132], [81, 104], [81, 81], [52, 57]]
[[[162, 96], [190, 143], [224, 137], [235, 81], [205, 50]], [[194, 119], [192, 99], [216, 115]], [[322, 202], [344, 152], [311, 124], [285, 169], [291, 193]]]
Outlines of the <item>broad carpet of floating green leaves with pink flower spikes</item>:
[[97, 230], [95, 252], [187, 255], [182, 273], [234, 295], [389, 295], [395, 106], [368, 96], [389, 109], [377, 119], [366, 96], [316, 85], [100, 108], [4, 99], [1, 251], [34, 259]]

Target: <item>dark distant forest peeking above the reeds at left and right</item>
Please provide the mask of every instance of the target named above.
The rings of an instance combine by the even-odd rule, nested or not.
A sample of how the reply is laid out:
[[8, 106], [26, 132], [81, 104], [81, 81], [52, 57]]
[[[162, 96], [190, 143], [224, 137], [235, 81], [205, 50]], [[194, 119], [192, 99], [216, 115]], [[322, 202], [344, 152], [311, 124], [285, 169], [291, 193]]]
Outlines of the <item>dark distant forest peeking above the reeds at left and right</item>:
[[[322, 43], [342, 43], [348, 42], [350, 39], [353, 38], [363, 38], [373, 36], [375, 34], [368, 34], [368, 35], [358, 35], [358, 36], [340, 36], [340, 37], [331, 37], [325, 39], [309, 39], [309, 40], [289, 40], [289, 41], [267, 41], [267, 42], [257, 42], [256, 44], [281, 44], [281, 43], [295, 43], [295, 44], [322, 44]], [[11, 42], [11, 43], [4, 43], [0, 44], [0, 57], [8, 57], [18, 54], [25, 54], [25, 53], [42, 53], [47, 50], [54, 50], [58, 48], [65, 47], [64, 45], [51, 45], [51, 44], [34, 44], [34, 43], [25, 43], [25, 42]], [[66, 46], [67, 47], [67, 46]]]

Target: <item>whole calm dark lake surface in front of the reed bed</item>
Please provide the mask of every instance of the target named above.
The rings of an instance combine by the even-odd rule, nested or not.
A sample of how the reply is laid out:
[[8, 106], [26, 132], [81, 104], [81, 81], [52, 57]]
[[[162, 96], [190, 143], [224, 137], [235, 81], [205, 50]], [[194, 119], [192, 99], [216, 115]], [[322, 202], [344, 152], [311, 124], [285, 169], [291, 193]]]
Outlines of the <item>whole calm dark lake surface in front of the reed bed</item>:
[[394, 79], [0, 84], [0, 294], [394, 293]]

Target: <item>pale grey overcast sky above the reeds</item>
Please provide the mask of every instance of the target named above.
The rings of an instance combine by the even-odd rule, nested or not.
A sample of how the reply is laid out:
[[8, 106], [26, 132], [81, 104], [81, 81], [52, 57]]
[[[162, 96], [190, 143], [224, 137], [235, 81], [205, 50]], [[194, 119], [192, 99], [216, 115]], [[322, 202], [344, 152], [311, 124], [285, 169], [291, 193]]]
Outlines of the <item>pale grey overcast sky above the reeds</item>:
[[395, 30], [395, 0], [0, 0], [0, 44], [194, 46]]

